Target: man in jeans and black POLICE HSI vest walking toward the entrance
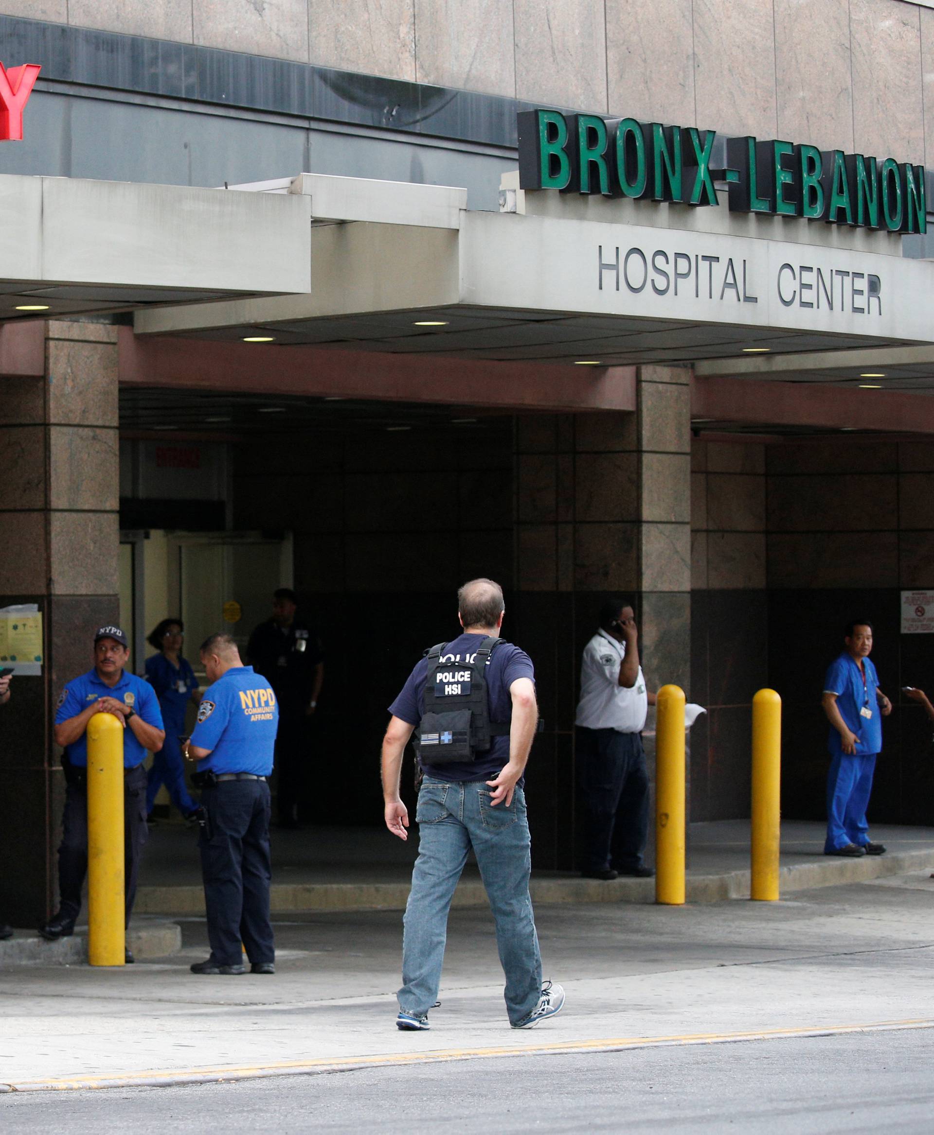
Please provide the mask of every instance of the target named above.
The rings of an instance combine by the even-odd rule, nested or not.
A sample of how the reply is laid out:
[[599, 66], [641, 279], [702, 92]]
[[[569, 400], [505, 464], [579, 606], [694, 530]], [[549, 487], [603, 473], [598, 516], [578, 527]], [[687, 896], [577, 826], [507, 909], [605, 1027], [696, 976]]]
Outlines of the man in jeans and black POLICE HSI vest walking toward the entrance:
[[386, 827], [408, 839], [399, 796], [402, 754], [412, 732], [424, 773], [415, 818], [418, 859], [406, 906], [400, 1029], [428, 1028], [437, 1002], [448, 911], [473, 849], [497, 925], [514, 1028], [533, 1028], [561, 1010], [565, 991], [542, 984], [528, 894], [531, 852], [523, 791], [539, 711], [528, 655], [500, 638], [502, 588], [489, 579], [458, 592], [464, 633], [416, 664], [390, 706], [383, 741]]

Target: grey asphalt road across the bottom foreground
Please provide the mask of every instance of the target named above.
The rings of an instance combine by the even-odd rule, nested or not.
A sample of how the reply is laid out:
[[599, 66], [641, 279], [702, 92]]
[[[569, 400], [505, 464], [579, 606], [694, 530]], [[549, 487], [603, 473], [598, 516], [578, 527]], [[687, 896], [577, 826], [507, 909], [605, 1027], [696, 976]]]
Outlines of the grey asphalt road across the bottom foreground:
[[934, 1029], [7, 1095], [3, 1135], [66, 1130], [899, 1135], [934, 1128]]

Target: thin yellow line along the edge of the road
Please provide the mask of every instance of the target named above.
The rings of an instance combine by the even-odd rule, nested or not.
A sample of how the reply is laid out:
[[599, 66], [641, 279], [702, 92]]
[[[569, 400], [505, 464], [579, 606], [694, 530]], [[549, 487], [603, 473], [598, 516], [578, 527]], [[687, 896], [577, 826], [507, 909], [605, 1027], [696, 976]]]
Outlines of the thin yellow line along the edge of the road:
[[881, 1020], [859, 1025], [815, 1025], [764, 1028], [749, 1033], [685, 1033], [674, 1036], [620, 1036], [587, 1041], [557, 1041], [552, 1044], [493, 1045], [489, 1048], [433, 1049], [427, 1052], [381, 1053], [359, 1057], [319, 1057], [315, 1060], [281, 1060], [267, 1065], [217, 1065], [150, 1071], [99, 1073], [91, 1076], [53, 1077], [0, 1083], [3, 1092], [67, 1092], [103, 1087], [169, 1087], [182, 1084], [234, 1083], [270, 1076], [314, 1075], [360, 1068], [400, 1067], [448, 1060], [484, 1060], [491, 1057], [553, 1056], [573, 1052], [625, 1052], [633, 1049], [683, 1048], [691, 1044], [735, 1044], [807, 1036], [841, 1036], [848, 1033], [889, 1033], [899, 1029], [934, 1028], [934, 1020]]

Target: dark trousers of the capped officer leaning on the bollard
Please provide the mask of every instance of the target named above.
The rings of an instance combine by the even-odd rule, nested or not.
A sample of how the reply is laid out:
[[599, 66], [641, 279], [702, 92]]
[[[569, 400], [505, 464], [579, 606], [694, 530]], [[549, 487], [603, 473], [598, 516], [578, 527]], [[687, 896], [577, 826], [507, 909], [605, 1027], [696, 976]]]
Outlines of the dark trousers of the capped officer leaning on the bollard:
[[[83, 770], [73, 770], [72, 781], [65, 789], [64, 834], [58, 849], [58, 890], [61, 896], [59, 910], [68, 918], [81, 914], [81, 890], [87, 874], [87, 784], [74, 777]], [[145, 825], [145, 768], [137, 765], [124, 773], [124, 881], [126, 925], [136, 898], [140, 859], [149, 829]]]

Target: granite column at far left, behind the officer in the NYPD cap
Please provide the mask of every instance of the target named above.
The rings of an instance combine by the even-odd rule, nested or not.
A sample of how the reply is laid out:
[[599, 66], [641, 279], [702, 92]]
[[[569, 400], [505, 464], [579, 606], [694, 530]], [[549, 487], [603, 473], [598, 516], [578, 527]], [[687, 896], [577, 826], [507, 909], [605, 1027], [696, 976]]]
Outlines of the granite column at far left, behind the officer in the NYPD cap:
[[0, 843], [15, 865], [0, 876], [0, 919], [20, 926], [55, 903], [56, 704], [92, 665], [94, 628], [118, 617], [116, 330], [50, 322], [43, 339], [34, 325], [15, 327], [3, 335], [23, 350], [0, 350], [0, 605], [39, 604], [45, 639], [42, 676], [15, 676], [0, 707]]

